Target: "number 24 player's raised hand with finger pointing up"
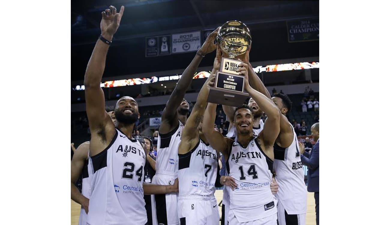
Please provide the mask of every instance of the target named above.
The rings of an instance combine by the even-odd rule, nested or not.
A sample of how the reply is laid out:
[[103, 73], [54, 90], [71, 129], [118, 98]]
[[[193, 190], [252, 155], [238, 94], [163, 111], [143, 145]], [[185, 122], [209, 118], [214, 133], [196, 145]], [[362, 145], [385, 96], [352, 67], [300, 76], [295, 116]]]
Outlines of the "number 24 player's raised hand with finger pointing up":
[[100, 21], [100, 30], [101, 35], [111, 41], [112, 36], [117, 32], [119, 23], [121, 23], [121, 19], [123, 16], [124, 6], [121, 6], [121, 10], [117, 13], [117, 9], [110, 6], [110, 9], [106, 9], [101, 12], [101, 21]]

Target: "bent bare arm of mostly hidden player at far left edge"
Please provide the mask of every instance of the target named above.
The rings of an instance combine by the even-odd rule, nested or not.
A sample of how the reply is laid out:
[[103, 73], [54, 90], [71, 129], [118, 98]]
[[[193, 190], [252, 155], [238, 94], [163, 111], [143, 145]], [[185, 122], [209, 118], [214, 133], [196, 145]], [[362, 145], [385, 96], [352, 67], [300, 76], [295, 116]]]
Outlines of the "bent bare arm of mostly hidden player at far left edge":
[[89, 199], [82, 195], [76, 187], [76, 181], [83, 170], [85, 160], [88, 159], [89, 142], [84, 142], [77, 147], [71, 161], [71, 199], [82, 205], [88, 213]]

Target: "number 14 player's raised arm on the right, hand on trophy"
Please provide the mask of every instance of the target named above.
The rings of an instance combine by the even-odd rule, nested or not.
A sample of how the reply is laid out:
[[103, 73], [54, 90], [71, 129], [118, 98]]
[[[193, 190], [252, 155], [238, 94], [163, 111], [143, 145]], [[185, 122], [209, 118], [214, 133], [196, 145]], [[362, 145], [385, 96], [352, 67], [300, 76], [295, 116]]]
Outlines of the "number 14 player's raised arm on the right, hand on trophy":
[[[244, 75], [246, 78], [248, 77], [248, 64], [241, 63], [239, 64], [241, 68], [239, 71], [240, 74]], [[264, 137], [264, 144], [266, 146], [273, 145], [276, 138], [278, 137], [280, 131], [280, 110], [279, 108], [272, 102], [264, 94], [258, 92], [253, 89], [248, 82], [248, 79], [245, 79], [245, 90], [249, 93], [249, 95], [255, 100], [256, 104], [267, 114], [266, 122], [264, 123], [264, 129], [262, 131]], [[257, 137], [260, 138], [260, 135]]]

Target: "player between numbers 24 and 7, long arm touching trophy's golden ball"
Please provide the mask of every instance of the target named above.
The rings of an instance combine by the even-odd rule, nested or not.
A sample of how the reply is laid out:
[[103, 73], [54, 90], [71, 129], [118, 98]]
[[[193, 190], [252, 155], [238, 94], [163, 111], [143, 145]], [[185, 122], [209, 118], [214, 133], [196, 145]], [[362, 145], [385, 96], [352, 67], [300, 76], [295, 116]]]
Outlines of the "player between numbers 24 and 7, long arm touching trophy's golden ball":
[[[207, 53], [216, 49], [213, 43], [218, 28], [206, 39], [202, 47], [184, 70], [183, 75], [177, 82], [167, 105], [161, 116], [161, 125], [158, 133], [158, 154], [156, 158], [156, 175], [152, 184], [171, 184], [177, 178], [178, 156], [177, 148], [181, 138], [183, 127], [186, 124], [189, 111], [188, 102], [183, 98], [191, 84], [200, 61]], [[177, 194], [152, 195], [153, 225], [178, 225]]]

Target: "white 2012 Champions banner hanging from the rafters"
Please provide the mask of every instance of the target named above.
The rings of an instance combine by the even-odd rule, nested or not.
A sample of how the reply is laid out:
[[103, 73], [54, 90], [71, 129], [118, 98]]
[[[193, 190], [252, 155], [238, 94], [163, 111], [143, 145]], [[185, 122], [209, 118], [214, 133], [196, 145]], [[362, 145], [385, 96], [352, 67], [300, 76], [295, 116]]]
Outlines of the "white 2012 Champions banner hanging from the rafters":
[[197, 51], [200, 40], [200, 31], [172, 34], [172, 53]]

